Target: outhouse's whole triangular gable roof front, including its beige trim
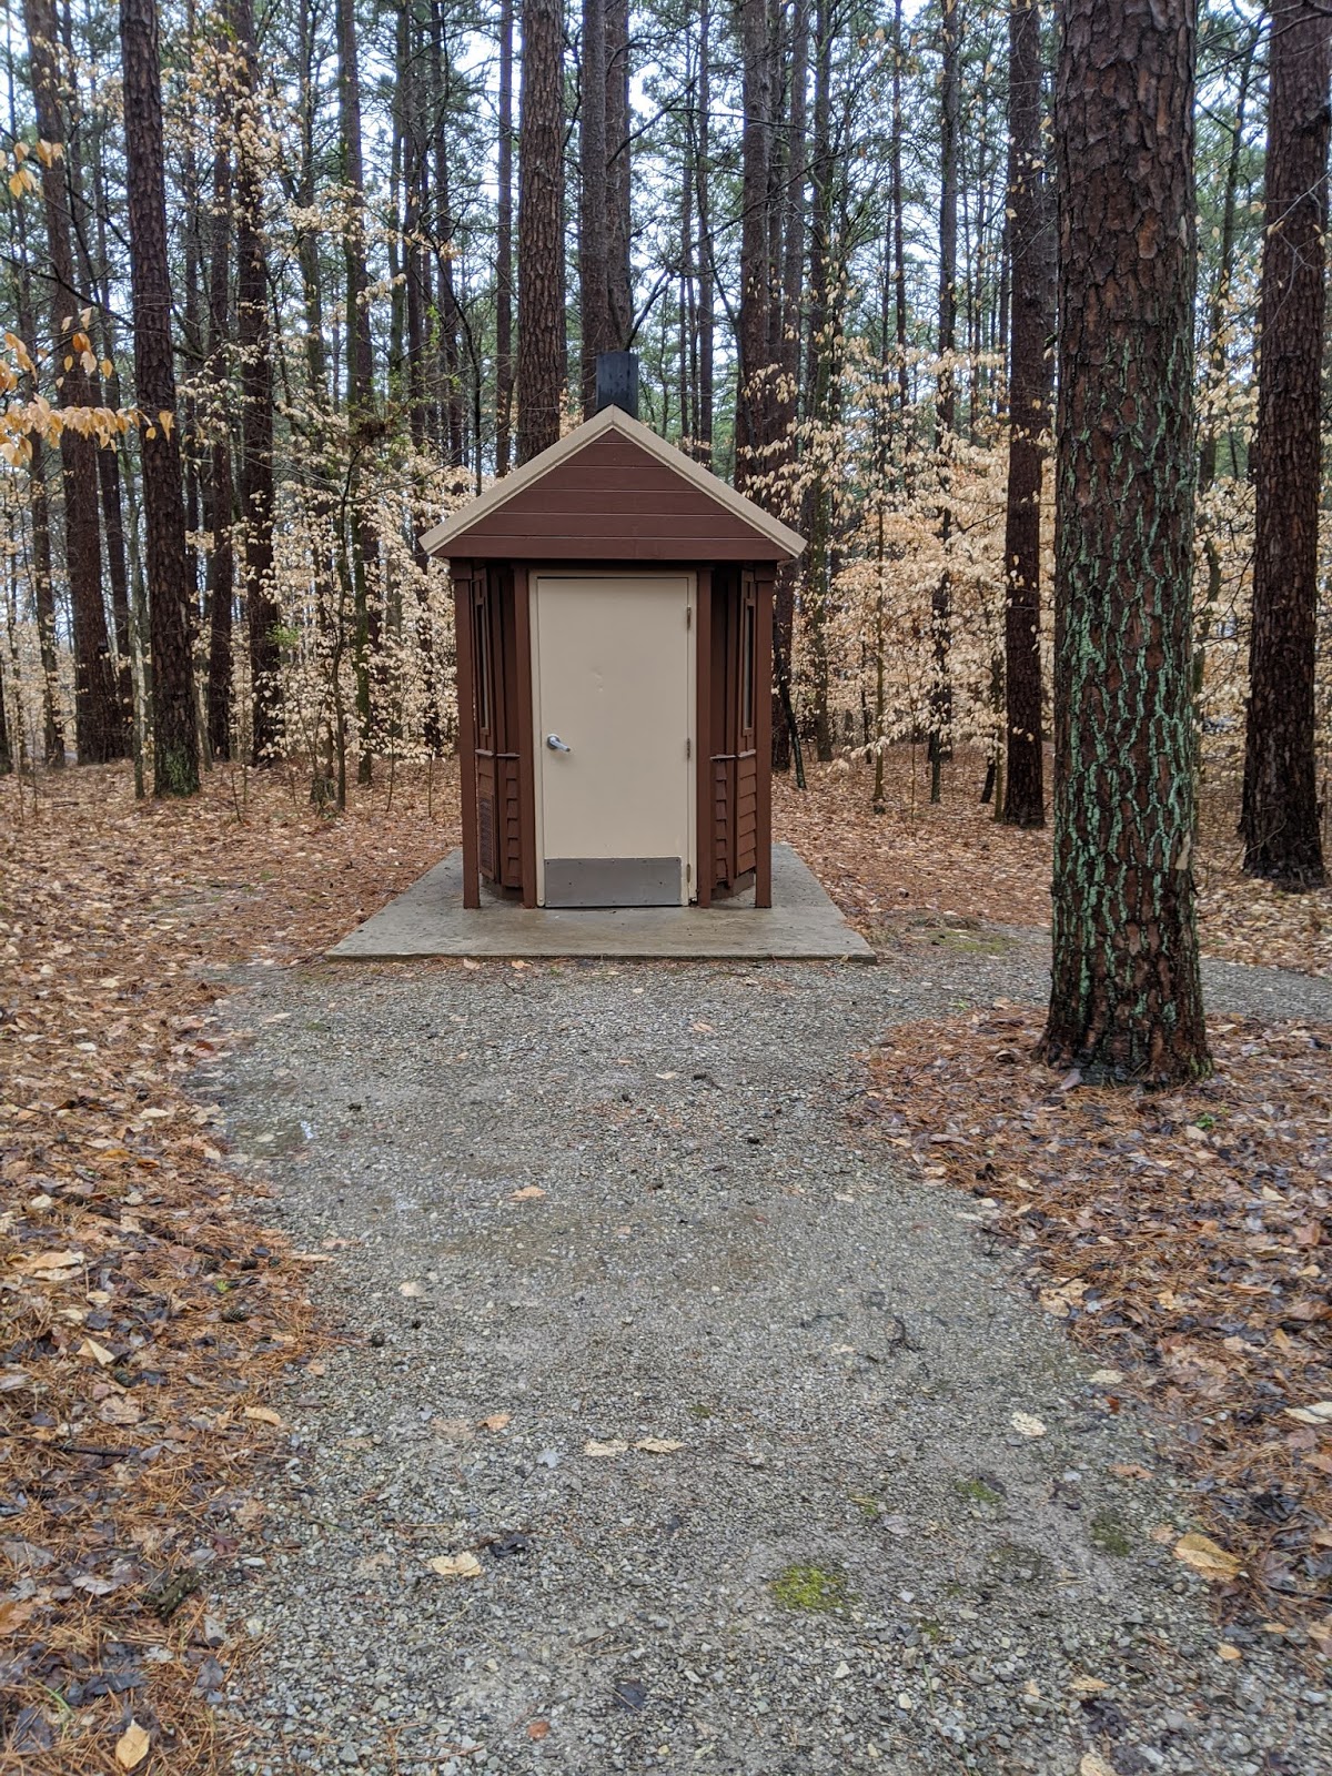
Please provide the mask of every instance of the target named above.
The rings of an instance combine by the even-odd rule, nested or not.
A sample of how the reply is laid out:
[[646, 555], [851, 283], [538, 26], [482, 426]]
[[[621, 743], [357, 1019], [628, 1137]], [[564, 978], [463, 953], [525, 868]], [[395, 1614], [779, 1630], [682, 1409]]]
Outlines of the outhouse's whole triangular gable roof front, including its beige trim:
[[641, 421], [604, 407], [449, 513], [421, 547], [488, 559], [787, 561], [805, 538]]

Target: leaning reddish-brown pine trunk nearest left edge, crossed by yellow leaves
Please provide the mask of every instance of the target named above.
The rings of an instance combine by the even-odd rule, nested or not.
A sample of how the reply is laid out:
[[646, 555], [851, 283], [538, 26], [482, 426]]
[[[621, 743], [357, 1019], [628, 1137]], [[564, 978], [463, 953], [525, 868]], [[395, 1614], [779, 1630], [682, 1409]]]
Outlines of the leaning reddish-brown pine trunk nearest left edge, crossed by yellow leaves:
[[[23, 18], [28, 36], [37, 135], [46, 142], [64, 144], [55, 5], [52, 0], [25, 0]], [[66, 179], [67, 169], [62, 160], [43, 167], [41, 188], [52, 261], [52, 336], [57, 375], [62, 378], [57, 396], [62, 408], [92, 405], [82, 355], [71, 352], [69, 345], [71, 334], [78, 330], [83, 300], [75, 284], [73, 217]], [[66, 357], [71, 361], [67, 368], [64, 368]], [[107, 611], [101, 597], [96, 449], [91, 439], [80, 437], [73, 430], [60, 433], [66, 572], [69, 575], [75, 643], [75, 746], [80, 764], [123, 758], [126, 748], [124, 716], [115, 694], [115, 662], [110, 654]]]

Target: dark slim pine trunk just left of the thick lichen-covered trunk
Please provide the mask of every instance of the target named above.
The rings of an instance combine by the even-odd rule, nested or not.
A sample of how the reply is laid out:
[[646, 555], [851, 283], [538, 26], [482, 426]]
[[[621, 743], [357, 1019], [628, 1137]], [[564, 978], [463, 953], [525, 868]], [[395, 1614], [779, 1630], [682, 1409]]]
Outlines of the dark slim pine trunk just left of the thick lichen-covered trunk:
[[1012, 321], [1009, 368], [1009, 504], [1003, 526], [1003, 821], [1044, 826], [1041, 707], [1041, 435], [1050, 424], [1053, 289], [1041, 146], [1041, 7], [1009, 12], [1009, 243]]

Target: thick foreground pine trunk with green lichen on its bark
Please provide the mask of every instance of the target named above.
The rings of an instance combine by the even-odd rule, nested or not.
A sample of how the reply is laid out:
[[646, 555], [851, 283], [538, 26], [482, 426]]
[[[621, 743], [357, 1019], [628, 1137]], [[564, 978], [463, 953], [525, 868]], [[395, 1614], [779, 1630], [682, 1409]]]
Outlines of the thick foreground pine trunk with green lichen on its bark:
[[1208, 1071], [1193, 913], [1193, 0], [1066, 0], [1051, 1066]]

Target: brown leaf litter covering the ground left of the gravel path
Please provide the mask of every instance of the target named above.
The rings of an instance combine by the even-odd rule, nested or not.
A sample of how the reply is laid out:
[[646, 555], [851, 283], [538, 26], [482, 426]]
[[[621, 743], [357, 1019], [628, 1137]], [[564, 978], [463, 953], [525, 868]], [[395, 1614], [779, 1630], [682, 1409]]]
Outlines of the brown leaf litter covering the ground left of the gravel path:
[[236, 1202], [186, 1074], [224, 1041], [210, 975], [321, 950], [448, 849], [430, 792], [433, 821], [424, 773], [321, 821], [275, 773], [149, 806], [114, 767], [36, 806], [0, 781], [0, 1771], [227, 1760], [208, 1696], [245, 1645], [202, 1590], [318, 1360], [318, 1254]]

